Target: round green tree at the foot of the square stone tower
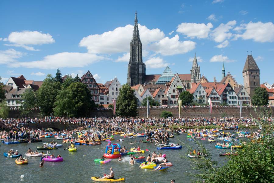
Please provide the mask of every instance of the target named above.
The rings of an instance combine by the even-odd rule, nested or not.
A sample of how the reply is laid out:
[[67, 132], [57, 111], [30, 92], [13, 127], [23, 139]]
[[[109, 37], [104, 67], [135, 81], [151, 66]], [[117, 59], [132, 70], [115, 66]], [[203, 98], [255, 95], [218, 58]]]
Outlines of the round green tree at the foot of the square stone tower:
[[252, 105], [255, 105], [255, 106], [268, 105], [268, 93], [265, 88], [258, 87], [254, 90], [254, 95], [252, 97]]

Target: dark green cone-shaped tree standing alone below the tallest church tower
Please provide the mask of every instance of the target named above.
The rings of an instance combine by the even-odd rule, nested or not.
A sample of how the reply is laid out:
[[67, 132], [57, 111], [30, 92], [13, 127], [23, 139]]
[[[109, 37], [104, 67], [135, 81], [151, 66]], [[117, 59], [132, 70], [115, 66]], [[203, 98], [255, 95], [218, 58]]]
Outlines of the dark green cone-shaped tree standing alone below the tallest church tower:
[[135, 117], [137, 115], [137, 99], [134, 91], [128, 84], [119, 88], [119, 96], [116, 102], [116, 114], [118, 116]]

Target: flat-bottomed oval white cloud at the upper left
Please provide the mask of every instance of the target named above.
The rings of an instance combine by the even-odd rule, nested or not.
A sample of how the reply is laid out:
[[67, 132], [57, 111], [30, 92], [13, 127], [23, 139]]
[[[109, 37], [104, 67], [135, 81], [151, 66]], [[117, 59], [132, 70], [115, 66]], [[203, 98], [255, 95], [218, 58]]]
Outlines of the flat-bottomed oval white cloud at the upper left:
[[9, 34], [8, 40], [11, 43], [19, 45], [41, 45], [55, 42], [50, 34], [28, 30], [23, 32], [12, 32]]

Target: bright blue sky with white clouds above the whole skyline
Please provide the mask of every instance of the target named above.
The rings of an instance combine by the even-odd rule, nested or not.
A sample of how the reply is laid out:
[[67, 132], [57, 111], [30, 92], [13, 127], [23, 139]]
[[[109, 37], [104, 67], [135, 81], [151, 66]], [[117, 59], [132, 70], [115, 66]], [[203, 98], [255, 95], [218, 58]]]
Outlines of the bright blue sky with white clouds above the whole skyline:
[[98, 83], [126, 82], [135, 10], [147, 74], [190, 73], [196, 52], [209, 81], [222, 62], [238, 83], [247, 51], [272, 84], [272, 1], [1, 1], [0, 76], [41, 81], [87, 70]]

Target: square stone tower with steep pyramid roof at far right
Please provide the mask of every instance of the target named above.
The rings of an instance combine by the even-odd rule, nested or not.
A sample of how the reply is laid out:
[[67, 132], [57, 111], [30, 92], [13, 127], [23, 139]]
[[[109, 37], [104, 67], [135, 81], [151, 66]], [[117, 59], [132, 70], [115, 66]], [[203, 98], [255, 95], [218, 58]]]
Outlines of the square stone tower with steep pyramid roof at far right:
[[244, 88], [252, 98], [254, 90], [260, 87], [260, 69], [252, 55], [248, 55], [243, 69]]

